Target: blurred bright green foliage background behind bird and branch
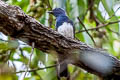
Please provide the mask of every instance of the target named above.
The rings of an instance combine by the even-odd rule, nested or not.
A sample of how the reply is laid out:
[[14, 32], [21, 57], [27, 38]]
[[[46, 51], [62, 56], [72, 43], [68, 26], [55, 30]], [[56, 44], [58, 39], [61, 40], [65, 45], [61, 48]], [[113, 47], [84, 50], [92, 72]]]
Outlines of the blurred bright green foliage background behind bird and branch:
[[[120, 55], [120, 26], [119, 23], [105, 25], [97, 28], [101, 24], [118, 21], [120, 18], [120, 1], [119, 0], [5, 0], [11, 5], [21, 7], [24, 12], [42, 24], [54, 29], [55, 18], [47, 13], [55, 7], [62, 7], [67, 11], [70, 19], [74, 21], [76, 28], [76, 38], [91, 46], [95, 46], [91, 37], [84, 31], [77, 17], [81, 19], [90, 35], [95, 40], [95, 47], [103, 48], [112, 55], [119, 58]], [[96, 29], [95, 29], [96, 28]], [[56, 56], [46, 54], [12, 38], [0, 34], [0, 62], [9, 63], [16, 71], [14, 80], [57, 80], [56, 68], [44, 68], [56, 63]], [[32, 55], [31, 55], [32, 54]], [[30, 56], [31, 62], [30, 64]], [[29, 66], [28, 66], [29, 65]], [[26, 69], [33, 70], [27, 72]], [[44, 68], [44, 69], [43, 69]], [[1, 69], [1, 67], [0, 67]], [[22, 71], [22, 72], [19, 72]], [[11, 72], [11, 71], [9, 71]], [[73, 80], [98, 80], [93, 74], [90, 74], [76, 66], [69, 65], [70, 76]], [[1, 78], [6, 76], [1, 76]], [[7, 75], [6, 80], [12, 80]], [[4, 79], [5, 80], [5, 79]]]

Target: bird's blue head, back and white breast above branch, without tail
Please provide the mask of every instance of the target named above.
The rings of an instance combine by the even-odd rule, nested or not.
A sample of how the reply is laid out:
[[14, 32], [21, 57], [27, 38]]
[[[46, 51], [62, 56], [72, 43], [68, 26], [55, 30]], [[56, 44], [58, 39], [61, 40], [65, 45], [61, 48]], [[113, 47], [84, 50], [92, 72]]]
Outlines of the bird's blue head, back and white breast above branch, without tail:
[[49, 13], [56, 17], [56, 30], [65, 37], [74, 38], [75, 29], [73, 22], [68, 18], [66, 12], [61, 8], [55, 8]]

